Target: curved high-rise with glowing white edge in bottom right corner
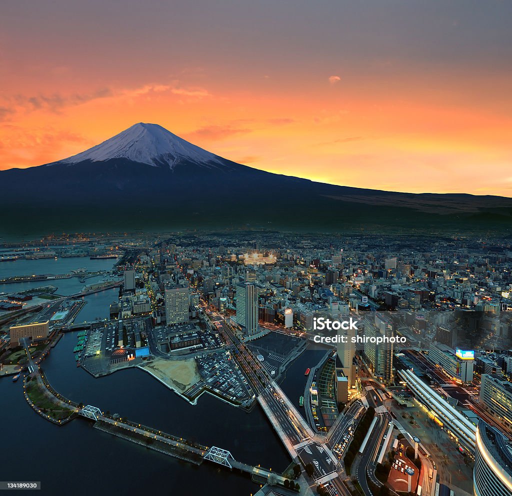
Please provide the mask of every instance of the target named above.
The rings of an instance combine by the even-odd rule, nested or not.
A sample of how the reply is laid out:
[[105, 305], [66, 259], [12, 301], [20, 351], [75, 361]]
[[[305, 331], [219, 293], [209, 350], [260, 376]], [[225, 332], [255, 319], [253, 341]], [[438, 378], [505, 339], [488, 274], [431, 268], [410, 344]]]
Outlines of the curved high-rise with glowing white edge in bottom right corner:
[[512, 444], [483, 420], [476, 434], [475, 496], [512, 496]]

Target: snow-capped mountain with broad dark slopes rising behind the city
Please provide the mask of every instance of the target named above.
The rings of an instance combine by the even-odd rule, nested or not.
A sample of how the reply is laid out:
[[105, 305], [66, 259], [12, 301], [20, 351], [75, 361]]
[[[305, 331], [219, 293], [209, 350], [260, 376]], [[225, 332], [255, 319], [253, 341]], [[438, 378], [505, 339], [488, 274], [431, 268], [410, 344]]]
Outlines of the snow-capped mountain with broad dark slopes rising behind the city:
[[512, 199], [397, 193], [271, 174], [135, 124], [78, 155], [0, 171], [0, 235], [251, 224], [299, 230], [503, 228]]

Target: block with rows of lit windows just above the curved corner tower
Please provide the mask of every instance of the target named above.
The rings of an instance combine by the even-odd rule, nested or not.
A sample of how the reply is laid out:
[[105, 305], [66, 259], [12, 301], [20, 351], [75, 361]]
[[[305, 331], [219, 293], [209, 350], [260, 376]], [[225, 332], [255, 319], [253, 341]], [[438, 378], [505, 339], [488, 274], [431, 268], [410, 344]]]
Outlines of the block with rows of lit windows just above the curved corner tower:
[[482, 374], [480, 402], [509, 429], [512, 428], [512, 383], [499, 374]]

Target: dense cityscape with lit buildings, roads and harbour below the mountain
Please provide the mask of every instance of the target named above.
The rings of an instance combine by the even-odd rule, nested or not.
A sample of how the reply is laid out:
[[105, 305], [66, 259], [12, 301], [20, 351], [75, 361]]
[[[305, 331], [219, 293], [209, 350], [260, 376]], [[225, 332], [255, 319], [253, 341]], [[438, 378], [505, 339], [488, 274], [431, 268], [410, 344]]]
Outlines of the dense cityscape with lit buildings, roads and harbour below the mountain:
[[[0, 260], [13, 432], [23, 418], [37, 442], [41, 419], [45, 443], [69, 432], [132, 446], [139, 466], [179, 460], [189, 494], [198, 478], [213, 494], [512, 494], [498, 235], [82, 233], [4, 242]], [[0, 462], [13, 481], [72, 490], [50, 460], [16, 458]]]

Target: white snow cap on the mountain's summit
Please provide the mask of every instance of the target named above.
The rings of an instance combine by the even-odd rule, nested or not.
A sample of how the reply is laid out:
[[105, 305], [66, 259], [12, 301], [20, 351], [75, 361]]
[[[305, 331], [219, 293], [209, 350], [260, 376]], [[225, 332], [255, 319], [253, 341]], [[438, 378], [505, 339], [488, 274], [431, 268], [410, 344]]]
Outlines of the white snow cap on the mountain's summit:
[[115, 158], [129, 159], [155, 167], [168, 164], [170, 168], [173, 168], [180, 159], [206, 166], [222, 165], [222, 159], [217, 155], [185, 141], [158, 124], [142, 122], [60, 162], [76, 164], [84, 160], [99, 162]]

